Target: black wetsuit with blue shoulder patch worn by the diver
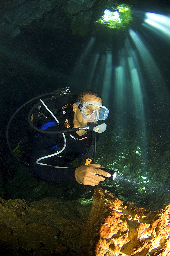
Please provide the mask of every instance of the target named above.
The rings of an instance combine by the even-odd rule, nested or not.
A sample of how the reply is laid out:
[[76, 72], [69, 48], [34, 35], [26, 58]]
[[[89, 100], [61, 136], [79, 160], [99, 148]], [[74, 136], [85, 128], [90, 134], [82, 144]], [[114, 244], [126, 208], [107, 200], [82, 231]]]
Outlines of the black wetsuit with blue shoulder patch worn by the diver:
[[[72, 119], [70, 120], [70, 123], [70, 128], [73, 128]], [[58, 130], [58, 125], [46, 129], [46, 131], [56, 130]], [[46, 165], [39, 165], [36, 163], [36, 160], [43, 156], [51, 155], [57, 151], [60, 151], [64, 146], [63, 136], [58, 134], [39, 134], [30, 159], [30, 175], [33, 178], [48, 182], [76, 181], [75, 169], [78, 166], [72, 167], [69, 163], [71, 163], [77, 157], [85, 154], [87, 148], [89, 148], [91, 144], [92, 133], [86, 132], [83, 136], [79, 136], [74, 131], [65, 133], [65, 137], [67, 143], [66, 148], [62, 153], [60, 153], [58, 156], [56, 155], [39, 161], [40, 163], [50, 164], [53, 166], [68, 167], [54, 168]]]

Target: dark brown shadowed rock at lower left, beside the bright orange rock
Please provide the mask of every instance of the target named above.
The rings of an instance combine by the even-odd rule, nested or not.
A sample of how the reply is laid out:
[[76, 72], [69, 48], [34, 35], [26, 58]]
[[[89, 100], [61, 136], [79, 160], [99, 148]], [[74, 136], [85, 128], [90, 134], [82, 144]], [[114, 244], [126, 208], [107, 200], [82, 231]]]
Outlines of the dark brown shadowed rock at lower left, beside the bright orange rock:
[[[84, 213], [80, 212], [80, 206], [84, 207]], [[83, 206], [74, 201], [64, 203], [52, 197], [32, 203], [1, 198], [2, 254], [70, 255], [71, 251], [79, 255], [81, 226], [88, 217], [87, 208], [88, 205]]]

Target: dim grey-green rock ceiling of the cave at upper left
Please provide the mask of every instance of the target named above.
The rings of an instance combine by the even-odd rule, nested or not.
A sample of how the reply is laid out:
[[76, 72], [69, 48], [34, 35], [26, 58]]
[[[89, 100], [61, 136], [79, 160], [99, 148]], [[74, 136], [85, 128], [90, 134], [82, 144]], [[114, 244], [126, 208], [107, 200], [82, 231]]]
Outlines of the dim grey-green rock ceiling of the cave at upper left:
[[[21, 30], [32, 23], [40, 22], [40, 26], [63, 29], [72, 21], [73, 34], [85, 35], [91, 21], [92, 11], [96, 0], [27, 0], [4, 1], [0, 17], [1, 36], [11, 38], [21, 33]], [[87, 14], [86, 14], [86, 11]], [[66, 21], [67, 19], [67, 21]], [[40, 21], [41, 20], [41, 21]], [[65, 26], [67, 24], [67, 26]], [[69, 29], [69, 28], [68, 28]], [[83, 29], [83, 33], [80, 31]]]

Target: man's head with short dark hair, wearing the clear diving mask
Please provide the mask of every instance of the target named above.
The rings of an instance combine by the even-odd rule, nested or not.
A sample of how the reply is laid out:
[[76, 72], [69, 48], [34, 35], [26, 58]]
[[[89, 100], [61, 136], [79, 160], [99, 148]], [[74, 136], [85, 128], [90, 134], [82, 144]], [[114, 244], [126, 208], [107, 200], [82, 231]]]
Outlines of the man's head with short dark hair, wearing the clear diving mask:
[[86, 125], [88, 122], [105, 120], [109, 110], [102, 106], [101, 96], [93, 90], [83, 90], [77, 96], [76, 103], [73, 104], [74, 121], [78, 127]]

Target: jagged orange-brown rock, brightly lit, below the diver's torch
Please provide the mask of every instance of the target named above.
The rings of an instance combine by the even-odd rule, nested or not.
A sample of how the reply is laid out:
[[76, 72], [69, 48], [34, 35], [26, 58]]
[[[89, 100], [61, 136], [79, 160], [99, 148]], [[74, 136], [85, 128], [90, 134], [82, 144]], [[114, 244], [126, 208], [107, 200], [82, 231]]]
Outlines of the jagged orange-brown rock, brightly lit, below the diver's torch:
[[96, 188], [93, 206], [82, 235], [86, 256], [170, 255], [170, 206], [147, 212], [127, 206], [110, 192]]

